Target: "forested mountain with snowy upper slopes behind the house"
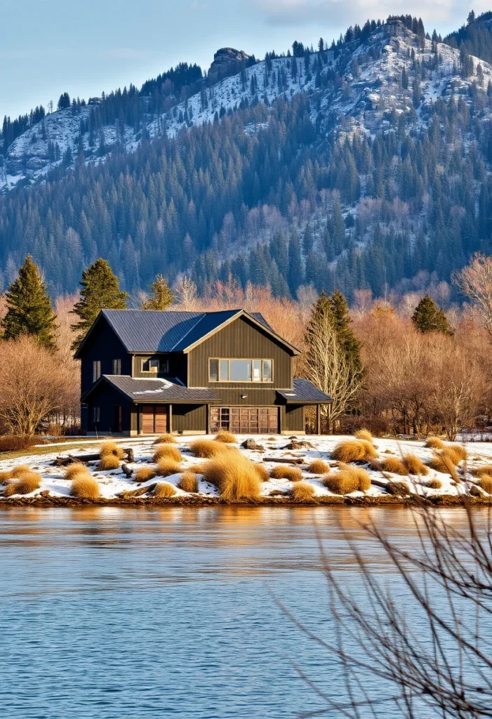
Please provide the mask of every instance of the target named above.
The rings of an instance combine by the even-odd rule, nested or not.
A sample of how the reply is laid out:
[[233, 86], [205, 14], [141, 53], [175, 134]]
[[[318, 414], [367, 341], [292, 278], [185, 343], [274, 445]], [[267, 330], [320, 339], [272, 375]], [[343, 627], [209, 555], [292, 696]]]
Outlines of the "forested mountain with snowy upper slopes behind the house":
[[492, 68], [467, 37], [401, 17], [261, 62], [224, 48], [207, 78], [48, 114], [6, 147], [3, 282], [28, 251], [53, 293], [98, 255], [134, 295], [157, 272], [349, 298], [446, 282], [492, 250]]

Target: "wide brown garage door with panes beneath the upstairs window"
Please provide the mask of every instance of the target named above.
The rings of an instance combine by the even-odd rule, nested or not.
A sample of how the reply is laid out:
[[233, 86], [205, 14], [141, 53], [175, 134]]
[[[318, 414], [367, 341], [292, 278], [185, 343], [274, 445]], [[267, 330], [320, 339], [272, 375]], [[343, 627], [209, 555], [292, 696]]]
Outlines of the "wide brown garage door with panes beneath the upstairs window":
[[226, 429], [234, 434], [277, 434], [277, 407], [213, 407], [210, 409], [210, 431]]

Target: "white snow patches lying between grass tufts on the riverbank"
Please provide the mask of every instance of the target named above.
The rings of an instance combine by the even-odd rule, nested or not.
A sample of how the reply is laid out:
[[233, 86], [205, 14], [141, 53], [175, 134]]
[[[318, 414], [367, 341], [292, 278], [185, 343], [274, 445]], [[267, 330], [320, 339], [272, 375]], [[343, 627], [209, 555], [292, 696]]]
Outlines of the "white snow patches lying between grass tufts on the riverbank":
[[[135, 462], [128, 464], [128, 466], [131, 467], [132, 470], [136, 470], [142, 465], [146, 464], [149, 464], [149, 466], [153, 466], [152, 454], [154, 451], [154, 439], [154, 437], [149, 437], [146, 439], [127, 438], [117, 440], [117, 443], [121, 447], [125, 448], [126, 446], [131, 446], [131, 448], [134, 450]], [[194, 439], [204, 439], [204, 437], [203, 435], [200, 437], [176, 437], [177, 444], [175, 446], [180, 449], [183, 457], [182, 471], [192, 470], [194, 466], [210, 461], [207, 459], [198, 459], [192, 457], [189, 447], [190, 442]], [[239, 444], [244, 439], [246, 439], [246, 436], [238, 435], [237, 437], [237, 441]], [[351, 438], [342, 436], [308, 435], [305, 437], [298, 438], [300, 441], [306, 441], [307, 443], [309, 443], [308, 446], [305, 446], [299, 450], [285, 449], [286, 445], [289, 444], [290, 441], [289, 438], [286, 436], [277, 435], [270, 437], [265, 435], [255, 436], [254, 439], [259, 445], [264, 448], [264, 452], [241, 448], [241, 452], [243, 452], [246, 457], [249, 457], [249, 459], [253, 460], [254, 462], [261, 462], [262, 464], [265, 464], [265, 466], [269, 470], [271, 469], [271, 467], [275, 466], [276, 462], [264, 462], [264, 457], [271, 457], [273, 459], [287, 457], [290, 457], [292, 459], [302, 459], [304, 464], [300, 464], [298, 466], [300, 467], [300, 470], [302, 470], [303, 480], [315, 487], [315, 494], [317, 496], [322, 496], [331, 495], [331, 493], [322, 485], [320, 476], [310, 475], [306, 471], [307, 464], [312, 462], [313, 459], [324, 459], [330, 464], [330, 471], [335, 471], [337, 467], [337, 462], [331, 459], [330, 452], [333, 450], [335, 445], [338, 444], [338, 442], [342, 441], [343, 439]], [[433, 455], [432, 449], [427, 449], [426, 447], [424, 447], [423, 441], [376, 439], [374, 442], [377, 448], [379, 459], [384, 459], [385, 457], [402, 457], [402, 455], [412, 452], [413, 454], [417, 454], [417, 457], [422, 459], [422, 461], [427, 462], [429, 459], [431, 459]], [[50, 490], [50, 493], [55, 496], [68, 496], [70, 494], [70, 482], [68, 482], [64, 478], [64, 467], [53, 466], [56, 457], [60, 455], [66, 456], [68, 454], [77, 456], [78, 454], [88, 454], [90, 452], [96, 452], [96, 449], [93, 446], [84, 446], [85, 443], [83, 441], [80, 441], [79, 444], [77, 444], [76, 442], [74, 442], [73, 444], [75, 444], [75, 447], [73, 445], [68, 446], [67, 449], [59, 449], [58, 452], [54, 452], [52, 454], [26, 454], [25, 456], [19, 457], [17, 459], [1, 460], [0, 472], [5, 470], [11, 470], [13, 467], [18, 466], [19, 464], [27, 465], [31, 470], [39, 472], [40, 475], [42, 475], [42, 486], [39, 490], [36, 490], [34, 493], [32, 493], [32, 495], [29, 496], [39, 494], [43, 490]], [[476, 467], [481, 467], [483, 466], [483, 464], [492, 463], [492, 442], [471, 442], [467, 445], [467, 449], [468, 461], [466, 468], [468, 470], [468, 475], [466, 475], [465, 477], [465, 469], [462, 463], [459, 472], [460, 476], [463, 477], [463, 479], [466, 479], [466, 482], [460, 483], [459, 486], [455, 485], [455, 483], [452, 482], [452, 478], [449, 475], [441, 474], [440, 472], [435, 472], [434, 470], [430, 470], [430, 474], [427, 475], [427, 477], [401, 477], [399, 475], [391, 475], [389, 479], [390, 481], [393, 480], [407, 482], [411, 492], [417, 493], [424, 497], [428, 497], [431, 495], [458, 495], [460, 493], [463, 493], [465, 488], [469, 489], [472, 486], [471, 480], [473, 480], [473, 477], [469, 474], [471, 470]], [[135, 490], [139, 487], [143, 487], [144, 485], [153, 485], [156, 481], [170, 482], [172, 485], [176, 486], [177, 482], [180, 480], [180, 475], [172, 475], [171, 477], [165, 478], [156, 477], [154, 480], [149, 480], [148, 482], [142, 482], [141, 484], [139, 484], [133, 479], [127, 479], [124, 473], [121, 471], [121, 468], [119, 470], [102, 472], [98, 471], [97, 465], [97, 461], [90, 462], [89, 470], [90, 474], [93, 475], [96, 480], [98, 480], [101, 489], [101, 496], [103, 498], [113, 498], [124, 490]], [[367, 469], [373, 480], [378, 480], [379, 482], [388, 481], [387, 477], [384, 477], [381, 472], [371, 470], [370, 467], [367, 467]], [[440, 489], [433, 490], [425, 486], [427, 485], [427, 482], [429, 482], [429, 480], [435, 478], [441, 480], [442, 482], [442, 487]], [[206, 482], [203, 479], [202, 475], [199, 475], [199, 480], [199, 491], [201, 495], [208, 497], [218, 495], [218, 490], [216, 490], [213, 485], [210, 485], [208, 482]], [[268, 482], [262, 483], [261, 495], [266, 497], [275, 490], [277, 490], [277, 492], [280, 491], [282, 493], [288, 493], [291, 487], [292, 482], [290, 482], [289, 480], [271, 478]], [[186, 495], [187, 493], [183, 492], [177, 487], [177, 497]], [[355, 492], [351, 496], [361, 497], [363, 495], [364, 493], [362, 492]], [[378, 497], [381, 495], [386, 495], [386, 493], [381, 487], [378, 487], [376, 485], [371, 485], [371, 489], [368, 490], [368, 492], [366, 493], [366, 496], [370, 497]], [[13, 496], [15, 498], [17, 495]]]

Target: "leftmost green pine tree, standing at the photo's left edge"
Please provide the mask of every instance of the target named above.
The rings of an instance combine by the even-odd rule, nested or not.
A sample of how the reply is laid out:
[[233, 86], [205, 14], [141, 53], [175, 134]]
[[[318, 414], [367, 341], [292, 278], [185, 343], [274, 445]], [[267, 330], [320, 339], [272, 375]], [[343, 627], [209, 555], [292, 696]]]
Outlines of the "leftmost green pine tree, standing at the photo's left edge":
[[7, 312], [2, 321], [5, 339], [22, 334], [36, 337], [46, 349], [55, 350], [55, 313], [37, 265], [27, 255], [19, 277], [6, 292]]

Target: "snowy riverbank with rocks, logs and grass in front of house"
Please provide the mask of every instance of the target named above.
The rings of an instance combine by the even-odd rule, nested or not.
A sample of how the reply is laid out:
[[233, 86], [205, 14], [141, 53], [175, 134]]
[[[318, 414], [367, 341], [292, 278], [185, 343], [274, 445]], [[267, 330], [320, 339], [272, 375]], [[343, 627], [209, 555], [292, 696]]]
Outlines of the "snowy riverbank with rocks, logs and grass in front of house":
[[[103, 468], [99, 462], [98, 450], [101, 441], [71, 441], [68, 446], [43, 446], [25, 452], [16, 452], [14, 457], [0, 459], [0, 481], [4, 473], [4, 486], [0, 486], [0, 507], [77, 507], [93, 506], [210, 506], [210, 505], [348, 505], [370, 507], [377, 505], [415, 505], [422, 501], [437, 506], [463, 506], [465, 502], [490, 505], [492, 494], [481, 487], [476, 476], [478, 470], [492, 467], [492, 443], [470, 442], [462, 448], [463, 459], [448, 472], [437, 471], [435, 459], [439, 450], [425, 446], [424, 441], [374, 439], [373, 459], [358, 462], [357, 467], [366, 472], [364, 490], [350, 493], [336, 493], [326, 477], [336, 475], [341, 464], [335, 447], [353, 438], [342, 436], [236, 436], [236, 441], [227, 447], [236, 449], [243, 457], [254, 462], [261, 470], [259, 496], [254, 500], [228, 501], [221, 496], [216, 483], [203, 474], [204, 467], [213, 461], [196, 456], [194, 442], [208, 441], [202, 437], [175, 437], [173, 451], [177, 453], [174, 468], [165, 474], [159, 470], [159, 458], [155, 456], [156, 438], [117, 439], [116, 444], [125, 452], [125, 457], [116, 461], [116, 466]], [[252, 441], [246, 442], [246, 439]], [[447, 446], [456, 446], [448, 443]], [[466, 456], [464, 456], [464, 454]], [[424, 472], [405, 476], [389, 471], [390, 462], [412, 456], [421, 463]], [[80, 498], [71, 495], [73, 486], [67, 467], [71, 461], [81, 461], [90, 478], [97, 482], [97, 498]], [[324, 469], [313, 470], [313, 463]], [[29, 493], [17, 493], [16, 470], [22, 464], [24, 470], [35, 472], [39, 485]], [[351, 465], [355, 467], [356, 465]], [[294, 470], [295, 480], [308, 485], [309, 497], [296, 497], [294, 487], [298, 484], [289, 472]], [[442, 469], [442, 468], [441, 468]], [[415, 471], [415, 470], [414, 470]], [[11, 475], [11, 477], [9, 476]], [[193, 475], [192, 485], [185, 485], [183, 475]], [[7, 477], [7, 478], [5, 478]], [[188, 477], [189, 479], [190, 477]], [[369, 482], [370, 480], [370, 482]], [[172, 496], [157, 496], [159, 485], [171, 485]], [[9, 489], [6, 488], [9, 485]], [[20, 486], [20, 485], [19, 485]], [[485, 485], [484, 485], [485, 486]], [[183, 487], [188, 489], [186, 491]], [[291, 496], [294, 494], [294, 496]]]

